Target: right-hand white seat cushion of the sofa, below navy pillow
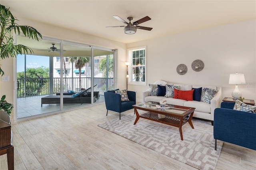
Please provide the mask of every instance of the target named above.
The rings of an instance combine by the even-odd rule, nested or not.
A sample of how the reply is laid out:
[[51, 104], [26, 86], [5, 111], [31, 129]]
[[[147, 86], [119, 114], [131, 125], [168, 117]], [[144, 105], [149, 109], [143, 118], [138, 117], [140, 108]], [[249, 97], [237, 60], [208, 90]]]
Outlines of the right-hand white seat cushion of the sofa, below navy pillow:
[[211, 105], [202, 101], [186, 101], [184, 103], [186, 107], [194, 107], [195, 111], [203, 113], [211, 113]]

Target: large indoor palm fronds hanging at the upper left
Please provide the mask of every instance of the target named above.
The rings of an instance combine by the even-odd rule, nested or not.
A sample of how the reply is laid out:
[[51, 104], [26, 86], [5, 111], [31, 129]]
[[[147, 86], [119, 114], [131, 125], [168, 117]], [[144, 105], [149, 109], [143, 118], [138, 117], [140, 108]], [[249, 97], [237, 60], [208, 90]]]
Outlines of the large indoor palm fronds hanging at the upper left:
[[[0, 4], [0, 59], [8, 57], [16, 57], [22, 53], [32, 53], [32, 49], [25, 45], [14, 44], [12, 31], [15, 34], [23, 34], [25, 37], [39, 41], [42, 35], [33, 27], [19, 26], [16, 17], [12, 15], [9, 8]], [[4, 75], [4, 71], [0, 67], [0, 75]]]

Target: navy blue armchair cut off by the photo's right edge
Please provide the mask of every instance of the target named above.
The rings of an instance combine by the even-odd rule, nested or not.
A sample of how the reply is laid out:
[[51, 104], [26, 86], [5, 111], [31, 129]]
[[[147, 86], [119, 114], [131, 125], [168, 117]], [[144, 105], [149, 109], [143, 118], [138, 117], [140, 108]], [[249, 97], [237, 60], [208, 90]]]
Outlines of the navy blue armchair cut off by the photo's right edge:
[[217, 139], [256, 150], [256, 113], [233, 110], [234, 104], [222, 102], [214, 110], [215, 150]]

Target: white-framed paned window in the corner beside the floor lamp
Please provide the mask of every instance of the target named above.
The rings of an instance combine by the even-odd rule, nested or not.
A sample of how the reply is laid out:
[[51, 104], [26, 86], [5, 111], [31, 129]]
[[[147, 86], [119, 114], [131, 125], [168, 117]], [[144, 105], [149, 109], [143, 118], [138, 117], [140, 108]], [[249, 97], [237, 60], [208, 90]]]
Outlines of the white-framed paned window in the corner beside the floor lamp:
[[129, 84], [146, 85], [146, 47], [128, 49]]

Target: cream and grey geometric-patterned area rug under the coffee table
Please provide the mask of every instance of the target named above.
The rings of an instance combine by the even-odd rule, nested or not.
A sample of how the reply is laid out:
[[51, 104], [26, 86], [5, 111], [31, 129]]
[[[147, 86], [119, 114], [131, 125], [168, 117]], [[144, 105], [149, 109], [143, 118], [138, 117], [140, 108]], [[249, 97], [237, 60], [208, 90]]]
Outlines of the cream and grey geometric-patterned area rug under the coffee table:
[[177, 127], [140, 118], [130, 114], [98, 125], [106, 130], [146, 146], [156, 152], [179, 160], [200, 170], [214, 170], [223, 142], [217, 140], [214, 150], [213, 126], [208, 121], [192, 119], [182, 126], [183, 141]]

